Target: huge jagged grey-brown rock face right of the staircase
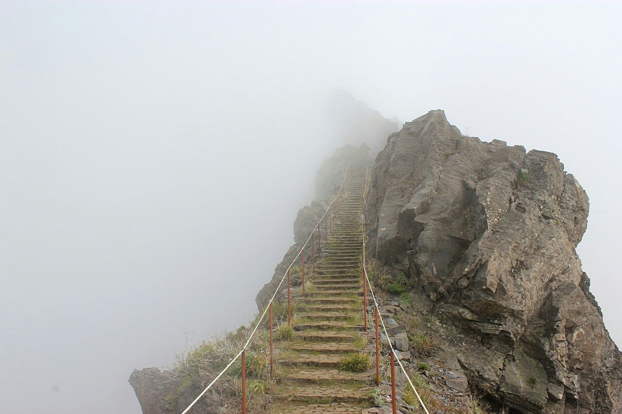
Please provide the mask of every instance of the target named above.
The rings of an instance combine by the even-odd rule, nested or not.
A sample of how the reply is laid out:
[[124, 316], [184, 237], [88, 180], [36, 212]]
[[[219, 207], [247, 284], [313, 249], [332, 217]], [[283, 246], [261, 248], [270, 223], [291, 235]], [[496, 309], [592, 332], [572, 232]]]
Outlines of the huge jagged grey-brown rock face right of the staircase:
[[588, 197], [555, 154], [465, 137], [443, 111], [378, 154], [369, 254], [459, 328], [471, 382], [521, 412], [622, 412], [622, 362], [575, 247]]

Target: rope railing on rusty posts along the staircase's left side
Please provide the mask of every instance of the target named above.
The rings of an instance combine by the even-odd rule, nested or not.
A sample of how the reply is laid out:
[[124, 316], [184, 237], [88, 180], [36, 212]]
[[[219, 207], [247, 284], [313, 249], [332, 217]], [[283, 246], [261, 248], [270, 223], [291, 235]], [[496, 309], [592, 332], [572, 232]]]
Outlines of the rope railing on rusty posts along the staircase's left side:
[[[291, 267], [294, 265], [295, 262], [297, 262], [298, 258], [302, 255], [302, 292], [303, 292], [303, 296], [304, 296], [304, 289], [305, 289], [305, 268], [304, 268], [304, 257], [305, 257], [305, 248], [307, 247], [307, 245], [310, 242], [310, 249], [311, 249], [311, 257], [312, 257], [312, 270], [315, 271], [315, 254], [316, 254], [316, 250], [315, 250], [315, 241], [313, 240], [313, 234], [315, 233], [315, 231], [317, 230], [317, 255], [318, 255], [318, 259], [320, 257], [321, 254], [321, 248], [322, 248], [322, 234], [321, 234], [321, 227], [322, 227], [322, 221], [324, 221], [324, 236], [325, 236], [325, 244], [328, 244], [328, 232], [329, 232], [329, 223], [334, 221], [334, 216], [335, 216], [335, 208], [333, 208], [333, 204], [335, 204], [335, 201], [337, 201], [340, 197], [343, 198], [343, 195], [345, 194], [346, 191], [346, 179], [348, 178], [348, 171], [350, 170], [350, 165], [348, 165], [348, 167], [346, 167], [346, 171], [345, 174], [343, 175], [343, 181], [341, 182], [341, 186], [339, 188], [339, 191], [337, 193], [337, 195], [335, 196], [335, 198], [333, 199], [333, 201], [330, 202], [330, 205], [328, 205], [328, 208], [326, 209], [326, 211], [324, 212], [324, 214], [322, 215], [322, 218], [320, 218], [320, 220], [317, 222], [317, 224], [315, 224], [315, 227], [313, 228], [313, 230], [311, 231], [311, 234], [309, 235], [309, 237], [307, 237], [307, 241], [304, 242], [304, 244], [302, 245], [302, 247], [300, 248], [300, 251], [298, 252], [298, 254], [296, 255], [296, 257], [294, 258], [294, 260], [292, 260], [292, 262], [290, 263], [289, 266], [287, 266], [287, 271], [285, 272], [285, 274], [283, 275], [283, 277], [281, 278], [281, 282], [279, 282], [279, 285], [277, 285], [276, 289], [274, 290], [274, 294], [272, 295], [272, 297], [270, 298], [268, 305], [266, 306], [266, 309], [263, 311], [263, 313], [261, 314], [261, 318], [259, 318], [259, 320], [257, 321], [257, 323], [255, 324], [255, 328], [253, 329], [253, 331], [251, 332], [250, 336], [248, 337], [248, 340], [246, 341], [246, 343], [244, 344], [244, 346], [242, 347], [242, 349], [238, 352], [238, 354], [233, 357], [233, 359], [231, 359], [231, 361], [229, 362], [229, 364], [225, 367], [225, 369], [221, 370], [220, 374], [216, 375], [216, 377], [210, 382], [210, 384], [207, 385], [207, 387], [205, 387], [205, 389], [197, 396], [197, 398], [195, 398], [193, 400], [192, 403], [190, 403], [190, 405], [188, 405], [188, 407], [183, 410], [182, 414], [187, 414], [188, 411], [190, 411], [190, 408], [192, 408], [197, 402], [198, 400], [201, 399], [201, 397], [203, 397], [203, 395], [205, 395], [205, 393], [214, 385], [216, 384], [216, 381], [218, 381], [218, 379], [220, 379], [220, 377], [223, 376], [223, 374], [225, 374], [226, 370], [228, 370], [235, 361], [237, 361], [237, 359], [239, 357], [241, 357], [242, 361], [241, 361], [241, 376], [242, 376], [242, 413], [246, 414], [246, 348], [249, 346], [249, 344], [251, 343], [251, 339], [253, 339], [254, 334], [256, 333], [257, 329], [259, 328], [259, 325], [261, 325], [261, 322], [263, 321], [264, 317], [266, 316], [266, 313], [270, 313], [269, 318], [270, 318], [270, 376], [272, 377], [273, 374], [273, 366], [274, 366], [274, 345], [272, 342], [272, 335], [273, 335], [273, 328], [274, 326], [272, 325], [272, 305], [274, 304], [274, 298], [276, 298], [276, 295], [279, 293], [279, 289], [281, 288], [281, 285], [283, 284], [285, 278], [287, 278], [287, 323], [291, 326], [292, 324], [292, 313], [291, 313], [291, 300], [292, 300], [292, 295], [291, 295], [291, 283], [290, 283], [290, 269]], [[331, 217], [332, 216], [332, 217]]]

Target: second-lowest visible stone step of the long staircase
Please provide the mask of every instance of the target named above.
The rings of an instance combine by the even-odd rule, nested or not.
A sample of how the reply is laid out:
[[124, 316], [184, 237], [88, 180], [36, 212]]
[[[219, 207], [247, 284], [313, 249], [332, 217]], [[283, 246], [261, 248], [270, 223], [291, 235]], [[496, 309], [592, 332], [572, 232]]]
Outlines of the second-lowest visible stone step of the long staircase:
[[[359, 402], [363, 400], [369, 400], [371, 398], [371, 387], [351, 388], [340, 387], [339, 384], [335, 385], [308, 385], [308, 386], [285, 386], [276, 390], [274, 397], [279, 400], [288, 401], [310, 401], [315, 402], [317, 400], [323, 400], [325, 398], [335, 402]], [[335, 406], [337, 408], [337, 406]], [[322, 413], [327, 411], [323, 410]], [[336, 412], [344, 412], [338, 410]], [[360, 413], [360, 411], [359, 411]]]

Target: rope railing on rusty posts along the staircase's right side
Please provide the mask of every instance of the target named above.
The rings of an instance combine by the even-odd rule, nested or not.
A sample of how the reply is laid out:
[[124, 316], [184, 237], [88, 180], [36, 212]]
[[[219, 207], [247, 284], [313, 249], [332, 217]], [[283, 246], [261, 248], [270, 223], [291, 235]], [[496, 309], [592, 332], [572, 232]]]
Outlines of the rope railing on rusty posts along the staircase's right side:
[[[367, 180], [368, 180], [368, 175], [369, 175], [369, 168], [367, 168], [367, 165], [365, 166], [367, 172], [365, 173], [365, 191], [363, 193], [363, 199], [366, 199], [366, 195], [367, 195]], [[399, 367], [401, 368], [402, 372], [404, 372], [404, 376], [406, 376], [406, 379], [408, 380], [408, 383], [411, 385], [412, 391], [415, 393], [415, 396], [417, 397], [417, 400], [419, 400], [419, 404], [421, 405], [421, 408], [424, 409], [425, 414], [430, 414], [427, 410], [427, 408], [425, 407], [424, 402], [421, 400], [421, 397], [419, 395], [419, 392], [417, 392], [417, 389], [415, 388], [414, 384], [412, 384], [412, 380], [411, 377], [409, 377], [408, 373], [406, 372], [406, 369], [404, 368], [404, 365], [402, 365], [402, 361], [399, 360], [399, 356], [396, 353], [396, 349], [393, 347], [393, 344], [391, 343], [391, 339], [389, 338], [389, 333], [387, 332], [387, 328], [386, 326], [384, 326], [384, 321], [383, 319], [380, 317], [380, 310], [378, 308], [378, 300], [376, 300], [376, 295], [374, 295], [374, 290], [371, 287], [371, 282], [369, 281], [369, 277], [367, 275], [367, 270], [365, 269], [365, 218], [363, 216], [363, 228], [361, 229], [361, 238], [363, 239], [363, 314], [364, 314], [364, 321], [365, 321], [365, 331], [367, 331], [367, 287], [369, 286], [369, 293], [371, 293], [371, 297], [374, 300], [374, 319], [376, 321], [375, 325], [376, 325], [376, 385], [380, 385], [380, 334], [379, 334], [379, 329], [378, 329], [378, 320], [380, 321], [380, 323], [383, 326], [383, 331], [384, 331], [384, 335], [387, 338], [387, 341], [389, 343], [389, 347], [390, 347], [390, 356], [391, 356], [391, 408], [392, 408], [392, 412], [393, 414], [397, 414], [397, 398], [396, 398], [396, 377], [395, 377], [395, 361], [397, 361], [397, 364], [399, 365]]]

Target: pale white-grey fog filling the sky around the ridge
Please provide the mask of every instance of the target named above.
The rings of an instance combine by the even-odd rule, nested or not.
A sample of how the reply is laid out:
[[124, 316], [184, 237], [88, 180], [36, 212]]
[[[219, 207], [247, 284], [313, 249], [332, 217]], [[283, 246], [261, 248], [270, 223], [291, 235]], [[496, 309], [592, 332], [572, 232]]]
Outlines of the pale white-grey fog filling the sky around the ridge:
[[[555, 152], [622, 343], [622, 30], [597, 2], [0, 2], [0, 411], [139, 413], [167, 366], [256, 311], [347, 90]], [[334, 118], [334, 117], [333, 117]], [[354, 126], [353, 126], [354, 127]], [[351, 140], [351, 137], [347, 139]]]

